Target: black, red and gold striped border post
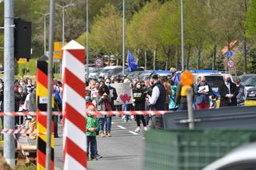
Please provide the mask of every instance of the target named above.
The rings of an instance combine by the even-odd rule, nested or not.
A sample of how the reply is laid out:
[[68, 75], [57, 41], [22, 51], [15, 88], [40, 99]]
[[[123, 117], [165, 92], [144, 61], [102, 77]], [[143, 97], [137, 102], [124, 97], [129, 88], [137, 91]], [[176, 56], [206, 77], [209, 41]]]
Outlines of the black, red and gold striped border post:
[[[39, 111], [47, 110], [48, 96], [48, 57], [42, 56], [37, 63], [37, 104]], [[39, 113], [39, 112], [38, 112]], [[54, 123], [52, 121], [52, 132], [54, 132]], [[38, 137], [38, 152], [37, 152], [37, 170], [46, 169], [46, 140], [47, 140], [47, 117], [40, 114], [37, 115], [37, 137]], [[51, 134], [51, 163], [50, 169], [54, 169], [54, 135]]]

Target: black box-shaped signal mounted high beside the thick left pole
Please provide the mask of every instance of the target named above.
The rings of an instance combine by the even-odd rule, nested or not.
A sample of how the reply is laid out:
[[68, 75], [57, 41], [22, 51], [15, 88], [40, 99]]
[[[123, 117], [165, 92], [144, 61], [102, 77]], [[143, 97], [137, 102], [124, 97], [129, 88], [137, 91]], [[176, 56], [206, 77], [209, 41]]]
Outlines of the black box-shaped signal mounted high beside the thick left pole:
[[14, 57], [30, 59], [31, 56], [31, 22], [14, 19]]

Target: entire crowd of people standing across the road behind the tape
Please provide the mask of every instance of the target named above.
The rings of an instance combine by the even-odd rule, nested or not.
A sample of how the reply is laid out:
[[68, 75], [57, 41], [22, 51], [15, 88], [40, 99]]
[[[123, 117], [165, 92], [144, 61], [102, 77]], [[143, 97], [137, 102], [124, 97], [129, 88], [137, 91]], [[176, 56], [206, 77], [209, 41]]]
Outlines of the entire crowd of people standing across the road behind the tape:
[[[175, 68], [170, 68], [169, 77], [159, 77], [158, 74], [151, 75], [146, 81], [140, 80], [139, 77], [131, 79], [126, 76], [100, 77], [97, 80], [86, 80], [86, 109], [87, 111], [144, 111], [156, 110], [176, 112], [178, 110], [187, 109], [186, 91], [180, 79], [181, 74]], [[114, 105], [114, 101], [118, 98], [117, 90], [114, 88], [115, 83], [130, 83], [130, 90], [133, 94], [133, 102], [131, 104]], [[0, 105], [3, 112], [3, 92], [4, 85], [0, 79]], [[15, 80], [14, 97], [15, 112], [35, 112], [36, 105], [36, 81], [31, 78], [25, 80]], [[193, 90], [194, 109], [210, 109], [216, 107], [218, 97], [214, 94], [212, 88], [206, 81], [206, 77], [197, 77], [194, 84], [190, 85]], [[62, 83], [53, 80], [54, 89], [54, 111], [62, 111]], [[219, 85], [220, 107], [244, 105], [244, 87], [241, 80], [237, 78], [234, 82], [230, 76], [226, 74], [222, 85]], [[162, 115], [136, 115], [135, 117], [125, 115], [122, 117], [124, 121], [136, 121], [134, 132], [146, 131], [148, 128], [163, 128]], [[54, 137], [58, 137], [58, 122], [62, 122], [62, 116], [53, 116], [54, 120]], [[3, 118], [1, 117], [2, 128]], [[111, 121], [110, 115], [86, 116], [86, 135], [87, 149], [90, 160], [101, 158], [98, 154], [96, 136], [111, 137]], [[36, 128], [35, 117], [15, 117], [16, 128], [30, 129], [30, 139], [36, 138], [34, 129]], [[89, 156], [89, 155], [88, 155]]]

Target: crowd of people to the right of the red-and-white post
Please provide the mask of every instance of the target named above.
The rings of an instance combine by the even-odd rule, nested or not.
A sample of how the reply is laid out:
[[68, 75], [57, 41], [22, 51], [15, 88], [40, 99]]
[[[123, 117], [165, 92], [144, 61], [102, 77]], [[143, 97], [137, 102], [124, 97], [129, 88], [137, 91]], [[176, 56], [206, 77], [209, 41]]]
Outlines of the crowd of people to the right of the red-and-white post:
[[[187, 109], [186, 92], [180, 81], [181, 75], [175, 68], [170, 68], [169, 77], [159, 77], [158, 74], [153, 74], [146, 81], [140, 80], [139, 77], [130, 79], [130, 77], [100, 77], [98, 80], [90, 79], [86, 81], [86, 108], [89, 111], [143, 111], [157, 110], [176, 112], [178, 110]], [[241, 80], [237, 78], [234, 82], [230, 76], [224, 76], [222, 85], [219, 85], [220, 106], [244, 105], [244, 87]], [[114, 83], [130, 82], [131, 90], [134, 97], [133, 104], [114, 105], [114, 100], [118, 95], [116, 89], [112, 87]], [[216, 108], [218, 96], [213, 92], [211, 86], [207, 83], [206, 77], [197, 77], [195, 83], [190, 85], [193, 90], [192, 96], [194, 99], [194, 109], [211, 109]], [[92, 116], [88, 116], [88, 121]], [[148, 128], [163, 128], [163, 120], [161, 115], [136, 115], [122, 117], [124, 121], [129, 121], [134, 118], [137, 127], [135, 132], [147, 130]], [[97, 152], [96, 135], [102, 137], [111, 136], [111, 121], [112, 116], [98, 116], [95, 124], [87, 124], [87, 136], [94, 136], [94, 140], [88, 140], [87, 147], [90, 146], [91, 160], [97, 160], [101, 157]], [[142, 126], [143, 128], [142, 128]], [[150, 124], [150, 125], [149, 125]], [[89, 150], [88, 150], [89, 153]]]

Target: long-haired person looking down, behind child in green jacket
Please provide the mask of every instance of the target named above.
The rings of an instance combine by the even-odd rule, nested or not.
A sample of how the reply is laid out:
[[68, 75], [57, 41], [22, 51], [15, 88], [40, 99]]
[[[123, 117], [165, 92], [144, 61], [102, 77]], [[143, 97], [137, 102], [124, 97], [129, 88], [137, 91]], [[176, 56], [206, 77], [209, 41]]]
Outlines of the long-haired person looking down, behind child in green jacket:
[[[111, 98], [110, 98], [110, 90], [106, 85], [102, 85], [98, 89], [98, 97], [96, 99], [96, 109], [98, 111], [111, 111]], [[102, 137], [105, 137], [104, 133], [104, 125], [106, 122], [106, 135], [111, 136], [111, 116], [110, 115], [99, 115], [98, 122], [99, 122], [99, 132]], [[105, 121], [106, 119], [106, 121]]]

